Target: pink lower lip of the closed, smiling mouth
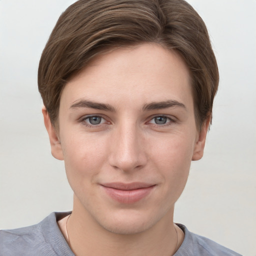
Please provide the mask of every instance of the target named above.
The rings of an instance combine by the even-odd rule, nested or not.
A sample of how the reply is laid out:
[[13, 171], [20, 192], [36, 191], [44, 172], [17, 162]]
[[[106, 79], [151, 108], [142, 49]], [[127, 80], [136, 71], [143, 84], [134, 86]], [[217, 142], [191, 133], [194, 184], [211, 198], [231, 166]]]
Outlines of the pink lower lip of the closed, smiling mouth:
[[107, 195], [120, 203], [134, 203], [147, 196], [154, 188], [154, 185], [131, 190], [121, 190], [106, 186], [101, 187]]

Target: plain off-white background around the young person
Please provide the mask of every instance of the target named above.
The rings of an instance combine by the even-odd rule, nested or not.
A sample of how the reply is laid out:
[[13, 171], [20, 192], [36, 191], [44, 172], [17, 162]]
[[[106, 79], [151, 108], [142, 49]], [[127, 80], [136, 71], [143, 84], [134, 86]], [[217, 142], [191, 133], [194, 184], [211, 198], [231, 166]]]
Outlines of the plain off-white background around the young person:
[[[41, 51], [71, 0], [0, 0], [0, 228], [72, 208], [50, 154], [37, 92]], [[203, 159], [192, 162], [174, 220], [256, 255], [256, 1], [188, 0], [205, 21], [220, 84]]]

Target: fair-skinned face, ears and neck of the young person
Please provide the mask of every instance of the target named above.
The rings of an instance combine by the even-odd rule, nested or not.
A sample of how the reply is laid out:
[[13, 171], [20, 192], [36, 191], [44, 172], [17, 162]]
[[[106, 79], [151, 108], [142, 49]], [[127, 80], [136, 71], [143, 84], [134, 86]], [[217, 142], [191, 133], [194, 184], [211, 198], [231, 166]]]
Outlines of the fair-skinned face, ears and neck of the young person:
[[65, 85], [57, 131], [42, 112], [74, 191], [75, 255], [172, 255], [183, 240], [174, 203], [209, 124], [196, 129], [179, 55], [141, 44], [97, 56]]

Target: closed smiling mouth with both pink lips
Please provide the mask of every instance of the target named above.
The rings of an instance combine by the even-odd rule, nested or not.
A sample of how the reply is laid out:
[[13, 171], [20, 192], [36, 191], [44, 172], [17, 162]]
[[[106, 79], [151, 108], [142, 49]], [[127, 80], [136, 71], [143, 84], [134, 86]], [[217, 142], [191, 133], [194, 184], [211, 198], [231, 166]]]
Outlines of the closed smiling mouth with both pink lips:
[[104, 192], [119, 203], [130, 204], [146, 197], [155, 187], [155, 184], [142, 182], [133, 183], [104, 183], [101, 184]]

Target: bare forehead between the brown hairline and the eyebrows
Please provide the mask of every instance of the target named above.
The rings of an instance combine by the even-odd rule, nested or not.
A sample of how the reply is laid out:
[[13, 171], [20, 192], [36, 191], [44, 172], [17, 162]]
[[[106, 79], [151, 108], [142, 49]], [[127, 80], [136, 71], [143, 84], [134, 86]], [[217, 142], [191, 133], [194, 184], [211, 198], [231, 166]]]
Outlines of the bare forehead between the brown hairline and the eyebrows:
[[141, 44], [98, 55], [65, 85], [60, 106], [79, 98], [110, 104], [191, 101], [189, 71], [182, 58], [158, 44]]

